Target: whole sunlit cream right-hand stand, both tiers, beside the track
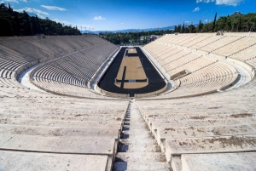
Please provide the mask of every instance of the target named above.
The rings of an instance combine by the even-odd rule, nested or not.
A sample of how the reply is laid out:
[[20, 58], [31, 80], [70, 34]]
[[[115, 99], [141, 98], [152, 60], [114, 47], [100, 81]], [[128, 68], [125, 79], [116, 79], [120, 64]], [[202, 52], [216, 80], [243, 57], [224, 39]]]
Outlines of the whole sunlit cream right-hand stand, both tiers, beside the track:
[[[253, 77], [255, 44], [255, 35], [172, 34], [148, 43], [143, 49], [160, 68], [163, 68], [167, 76], [175, 76], [181, 71], [187, 72], [179, 77], [178, 82], [175, 81], [176, 90], [158, 97], [175, 98], [212, 93], [227, 88], [232, 83], [239, 83], [238, 75]], [[230, 62], [222, 62], [227, 57], [237, 61], [232, 61], [232, 65]], [[239, 60], [251, 62], [247, 62], [246, 66]], [[247, 83], [250, 78], [242, 83]]]

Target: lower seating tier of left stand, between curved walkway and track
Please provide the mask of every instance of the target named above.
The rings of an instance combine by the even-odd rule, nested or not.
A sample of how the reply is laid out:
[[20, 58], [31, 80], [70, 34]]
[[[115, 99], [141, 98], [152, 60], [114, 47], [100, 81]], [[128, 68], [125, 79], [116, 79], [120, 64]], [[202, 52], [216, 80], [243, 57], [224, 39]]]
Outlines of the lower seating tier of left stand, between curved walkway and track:
[[32, 81], [39, 88], [58, 94], [97, 96], [86, 89], [87, 85], [108, 56], [117, 49], [111, 43], [104, 43], [38, 66], [31, 75]]

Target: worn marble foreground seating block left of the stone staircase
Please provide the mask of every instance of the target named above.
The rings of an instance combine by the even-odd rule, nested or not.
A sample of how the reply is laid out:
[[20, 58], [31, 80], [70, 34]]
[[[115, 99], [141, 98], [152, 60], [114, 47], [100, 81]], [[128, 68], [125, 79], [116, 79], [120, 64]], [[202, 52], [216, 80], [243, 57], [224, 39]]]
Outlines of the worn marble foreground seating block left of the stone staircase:
[[[129, 101], [82, 100], [17, 87], [1, 87], [0, 96], [1, 168], [14, 169], [8, 162], [20, 156], [32, 161], [32, 157], [49, 157], [46, 166], [57, 167], [67, 163], [57, 160], [67, 157], [69, 164], [76, 163], [80, 154], [79, 161], [88, 162], [85, 168], [99, 162], [99, 169], [110, 170]], [[28, 161], [15, 163], [27, 165]], [[32, 166], [40, 163], [44, 165], [38, 161]]]

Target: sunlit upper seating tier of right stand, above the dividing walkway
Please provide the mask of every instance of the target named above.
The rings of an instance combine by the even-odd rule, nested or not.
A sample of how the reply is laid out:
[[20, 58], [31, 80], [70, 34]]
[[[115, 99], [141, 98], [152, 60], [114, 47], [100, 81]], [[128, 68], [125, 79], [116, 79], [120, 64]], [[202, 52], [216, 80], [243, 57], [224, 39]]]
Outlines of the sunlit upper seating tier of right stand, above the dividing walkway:
[[[179, 47], [186, 47], [208, 53], [211, 52], [212, 54], [219, 54], [224, 57], [229, 56], [231, 58], [239, 59], [239, 54], [243, 54], [243, 52], [250, 53], [249, 49], [253, 49], [256, 44], [256, 35], [253, 33], [224, 33], [224, 36], [216, 35], [215, 33], [172, 34], [160, 37], [154, 42], [166, 43], [166, 45], [169, 46], [178, 45]], [[149, 46], [154, 45], [149, 43], [146, 47]]]

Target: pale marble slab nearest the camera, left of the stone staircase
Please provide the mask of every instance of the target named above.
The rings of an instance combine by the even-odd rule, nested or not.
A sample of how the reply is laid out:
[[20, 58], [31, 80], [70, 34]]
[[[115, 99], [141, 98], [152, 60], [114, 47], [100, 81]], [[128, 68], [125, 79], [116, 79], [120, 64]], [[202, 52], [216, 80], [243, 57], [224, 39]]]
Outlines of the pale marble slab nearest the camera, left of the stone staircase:
[[[3, 170], [100, 170], [108, 168], [107, 156], [0, 151]], [[17, 162], [19, 161], [19, 162]]]

